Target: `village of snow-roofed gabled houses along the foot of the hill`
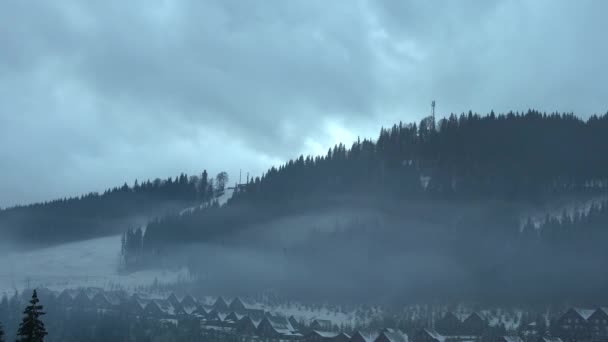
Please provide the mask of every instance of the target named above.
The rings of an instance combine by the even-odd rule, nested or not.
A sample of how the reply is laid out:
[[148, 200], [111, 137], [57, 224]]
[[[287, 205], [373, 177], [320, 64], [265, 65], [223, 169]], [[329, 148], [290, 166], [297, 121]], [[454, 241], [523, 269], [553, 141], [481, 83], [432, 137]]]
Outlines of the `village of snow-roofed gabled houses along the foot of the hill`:
[[[100, 289], [64, 290], [54, 302], [68, 310], [114, 311], [121, 314], [152, 319], [194, 321], [204, 334], [221, 334], [235, 340], [301, 340], [310, 342], [466, 342], [480, 341], [490, 326], [490, 317], [483, 312], [460, 315], [447, 312], [434, 327], [407, 334], [391, 329], [378, 332], [355, 332], [349, 336], [332, 331], [329, 320], [314, 319], [299, 322], [295, 317], [271, 314], [263, 306], [242, 298], [226, 301], [219, 297], [213, 303], [201, 303], [192, 296], [178, 298], [145, 298], [119, 291]], [[566, 310], [555, 320], [553, 337], [521, 335], [526, 342], [601, 341], [608, 342], [608, 309]], [[520, 342], [520, 336], [500, 337], [500, 342]], [[519, 340], [518, 340], [519, 339]]]

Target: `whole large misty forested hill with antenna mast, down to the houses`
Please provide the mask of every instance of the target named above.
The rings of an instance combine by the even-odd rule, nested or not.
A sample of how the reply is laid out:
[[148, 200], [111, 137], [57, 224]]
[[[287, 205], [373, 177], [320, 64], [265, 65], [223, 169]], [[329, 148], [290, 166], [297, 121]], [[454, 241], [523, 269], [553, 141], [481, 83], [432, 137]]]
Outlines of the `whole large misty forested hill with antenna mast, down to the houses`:
[[[606, 203], [538, 227], [522, 222], [556, 199], [605, 198], [607, 147], [608, 115], [400, 123], [377, 140], [271, 168], [224, 206], [153, 220], [128, 236], [136, 241], [127, 253], [137, 256], [132, 267], [187, 263], [224, 291], [219, 279], [232, 279], [234, 291], [247, 284], [334, 299], [604, 298]], [[312, 278], [323, 282], [297, 286]], [[547, 281], [560, 286], [547, 291]]]

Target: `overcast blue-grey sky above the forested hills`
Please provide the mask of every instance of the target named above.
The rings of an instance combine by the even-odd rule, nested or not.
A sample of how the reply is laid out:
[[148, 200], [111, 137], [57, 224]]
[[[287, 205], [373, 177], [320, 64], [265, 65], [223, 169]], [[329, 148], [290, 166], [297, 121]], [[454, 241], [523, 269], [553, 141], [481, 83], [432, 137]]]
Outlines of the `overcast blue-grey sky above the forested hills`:
[[260, 174], [472, 109], [608, 110], [608, 1], [0, 4], [0, 206]]

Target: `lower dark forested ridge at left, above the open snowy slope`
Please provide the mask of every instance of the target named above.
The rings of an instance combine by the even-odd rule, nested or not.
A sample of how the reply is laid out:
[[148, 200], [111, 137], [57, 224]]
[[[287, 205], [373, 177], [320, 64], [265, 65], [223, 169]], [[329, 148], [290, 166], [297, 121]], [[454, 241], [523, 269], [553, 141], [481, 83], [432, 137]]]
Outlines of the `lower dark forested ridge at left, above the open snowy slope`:
[[125, 183], [101, 194], [0, 210], [0, 233], [5, 240], [30, 245], [122, 233], [153, 217], [209, 201], [214, 190], [206, 171], [200, 177], [181, 174], [165, 180], [135, 181], [132, 186]]

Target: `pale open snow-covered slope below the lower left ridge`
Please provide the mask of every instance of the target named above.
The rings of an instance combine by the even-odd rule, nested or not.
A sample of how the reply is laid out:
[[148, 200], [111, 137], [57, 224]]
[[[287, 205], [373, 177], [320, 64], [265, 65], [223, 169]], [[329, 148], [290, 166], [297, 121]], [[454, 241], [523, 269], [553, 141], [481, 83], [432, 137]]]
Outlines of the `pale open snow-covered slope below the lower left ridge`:
[[188, 279], [186, 270], [146, 270], [121, 274], [118, 272], [120, 247], [121, 236], [116, 235], [2, 255], [0, 295], [28, 287], [133, 290], [154, 282], [166, 284]]

